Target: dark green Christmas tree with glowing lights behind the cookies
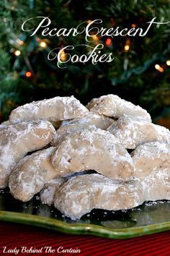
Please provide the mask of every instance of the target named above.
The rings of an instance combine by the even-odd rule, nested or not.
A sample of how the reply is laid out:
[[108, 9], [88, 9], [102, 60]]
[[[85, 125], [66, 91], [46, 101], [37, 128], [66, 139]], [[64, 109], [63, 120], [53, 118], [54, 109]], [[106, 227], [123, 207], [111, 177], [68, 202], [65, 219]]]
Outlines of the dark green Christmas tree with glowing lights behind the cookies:
[[[84, 35], [45, 36], [41, 31], [30, 37], [22, 24], [31, 17], [49, 17], [51, 28], [76, 27], [81, 22], [101, 19], [103, 27], [143, 27], [156, 17], [168, 22], [169, 0], [4, 0], [0, 1], [0, 107], [1, 121], [17, 106], [52, 98], [75, 95], [86, 104], [91, 98], [113, 93], [146, 108], [153, 121], [169, 127], [170, 116], [170, 23], [154, 25], [145, 37], [99, 37], [91, 46], [104, 44], [112, 52], [112, 62], [68, 63], [60, 69], [48, 61], [53, 48], [86, 44]], [[31, 20], [32, 27], [35, 20]], [[89, 54], [89, 48], [75, 49]], [[62, 52], [62, 59], [67, 58]]]

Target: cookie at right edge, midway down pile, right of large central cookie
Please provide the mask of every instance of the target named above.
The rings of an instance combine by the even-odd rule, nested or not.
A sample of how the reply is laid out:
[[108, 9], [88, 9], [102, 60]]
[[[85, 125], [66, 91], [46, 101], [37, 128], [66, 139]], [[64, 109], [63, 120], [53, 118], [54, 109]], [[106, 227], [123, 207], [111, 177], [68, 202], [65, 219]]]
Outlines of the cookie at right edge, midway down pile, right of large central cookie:
[[147, 142], [139, 145], [131, 153], [135, 164], [136, 178], [145, 178], [151, 172], [169, 170], [170, 175], [170, 145], [164, 142]]

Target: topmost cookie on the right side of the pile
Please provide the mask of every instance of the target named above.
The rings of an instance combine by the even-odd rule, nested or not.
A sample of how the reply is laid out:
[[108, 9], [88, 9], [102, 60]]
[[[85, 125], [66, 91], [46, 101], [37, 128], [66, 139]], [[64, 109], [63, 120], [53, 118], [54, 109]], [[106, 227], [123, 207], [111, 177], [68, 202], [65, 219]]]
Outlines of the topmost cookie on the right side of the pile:
[[129, 101], [125, 101], [117, 95], [104, 95], [92, 99], [86, 106], [90, 111], [104, 116], [119, 118], [123, 114], [131, 116], [142, 116], [143, 119], [151, 121], [151, 116], [140, 106], [135, 106]]

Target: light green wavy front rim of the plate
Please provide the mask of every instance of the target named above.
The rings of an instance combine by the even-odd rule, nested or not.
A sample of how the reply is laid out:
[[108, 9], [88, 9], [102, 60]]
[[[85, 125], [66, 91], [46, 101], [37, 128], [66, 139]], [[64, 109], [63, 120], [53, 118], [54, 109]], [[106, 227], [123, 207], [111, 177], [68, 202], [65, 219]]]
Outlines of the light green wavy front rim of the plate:
[[61, 231], [66, 234], [90, 234], [111, 239], [128, 239], [170, 230], [170, 221], [124, 229], [111, 229], [87, 223], [66, 223], [65, 221], [59, 221], [54, 218], [4, 210], [0, 210], [0, 221], [39, 226], [45, 229]]

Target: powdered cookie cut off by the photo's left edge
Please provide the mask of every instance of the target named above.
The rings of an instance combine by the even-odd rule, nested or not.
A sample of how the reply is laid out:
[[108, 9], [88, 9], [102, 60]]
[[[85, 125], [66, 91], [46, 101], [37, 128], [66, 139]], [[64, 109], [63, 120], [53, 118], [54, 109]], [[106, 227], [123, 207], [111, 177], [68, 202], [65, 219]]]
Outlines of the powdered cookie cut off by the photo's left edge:
[[23, 122], [0, 129], [0, 188], [7, 186], [16, 163], [28, 152], [48, 145], [54, 134], [49, 121]]

